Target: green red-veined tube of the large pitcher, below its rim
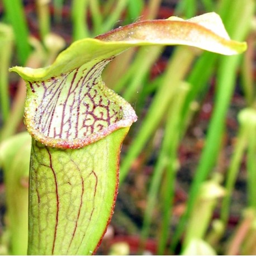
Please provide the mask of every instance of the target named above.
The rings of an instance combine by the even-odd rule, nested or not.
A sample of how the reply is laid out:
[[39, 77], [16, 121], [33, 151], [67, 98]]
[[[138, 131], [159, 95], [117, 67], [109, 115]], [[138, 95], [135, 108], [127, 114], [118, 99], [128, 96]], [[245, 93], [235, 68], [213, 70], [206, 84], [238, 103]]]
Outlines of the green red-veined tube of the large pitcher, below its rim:
[[[113, 212], [127, 130], [81, 149], [32, 140], [29, 254], [91, 254]], [[102, 148], [104, 150], [102, 150]], [[96, 231], [97, 227], [97, 231]]]

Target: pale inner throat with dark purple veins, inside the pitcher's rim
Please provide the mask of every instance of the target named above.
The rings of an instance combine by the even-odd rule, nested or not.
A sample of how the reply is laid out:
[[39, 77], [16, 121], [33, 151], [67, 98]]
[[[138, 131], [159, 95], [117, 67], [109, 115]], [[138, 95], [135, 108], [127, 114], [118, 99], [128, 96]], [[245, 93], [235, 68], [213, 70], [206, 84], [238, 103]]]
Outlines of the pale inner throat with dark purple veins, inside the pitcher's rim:
[[111, 99], [111, 91], [106, 90], [100, 77], [109, 61], [30, 83], [31, 91], [36, 94], [30, 105], [36, 129], [50, 138], [75, 139], [121, 120], [122, 107]]

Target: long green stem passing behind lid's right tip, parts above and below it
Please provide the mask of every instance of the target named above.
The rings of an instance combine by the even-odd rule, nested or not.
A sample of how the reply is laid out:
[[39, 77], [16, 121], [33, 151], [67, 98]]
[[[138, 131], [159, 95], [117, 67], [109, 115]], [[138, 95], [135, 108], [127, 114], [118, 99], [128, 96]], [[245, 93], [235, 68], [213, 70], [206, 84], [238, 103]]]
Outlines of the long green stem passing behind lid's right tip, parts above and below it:
[[[245, 2], [233, 2], [233, 12], [230, 14], [236, 17], [236, 20], [231, 18], [233, 30], [231, 31], [230, 29], [230, 36], [240, 41], [244, 40], [248, 32], [254, 11], [254, 2], [252, 0], [246, 0]], [[231, 11], [230, 8], [229, 11]], [[196, 176], [193, 179], [189, 191], [187, 210], [179, 221], [176, 233], [173, 237], [173, 248], [177, 245], [179, 238], [181, 238], [187, 218], [195, 203], [200, 184], [206, 179], [216, 163], [225, 127], [226, 112], [235, 87], [236, 69], [238, 68], [239, 59], [240, 56], [221, 57], [218, 69], [219, 73], [217, 75], [215, 108], [208, 127], [205, 147], [203, 148], [200, 163], [195, 172]]]

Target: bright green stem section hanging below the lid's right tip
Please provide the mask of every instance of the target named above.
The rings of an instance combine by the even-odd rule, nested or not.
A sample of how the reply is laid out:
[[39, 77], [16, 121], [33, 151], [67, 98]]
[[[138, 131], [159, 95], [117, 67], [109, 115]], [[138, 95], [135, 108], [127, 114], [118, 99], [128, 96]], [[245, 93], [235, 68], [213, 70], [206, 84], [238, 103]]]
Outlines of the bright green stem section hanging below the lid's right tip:
[[208, 128], [205, 148], [203, 148], [200, 163], [196, 169], [196, 176], [193, 179], [192, 186], [189, 191], [186, 214], [184, 214], [179, 221], [176, 234], [173, 238], [173, 246], [176, 246], [178, 239], [183, 232], [187, 218], [195, 203], [200, 184], [205, 181], [206, 177], [215, 165], [221, 146], [222, 134], [224, 132], [226, 111], [234, 89], [235, 70], [238, 65], [238, 60], [237, 56], [231, 56], [229, 58], [224, 57], [219, 65], [220, 76], [217, 82], [219, 89], [217, 91], [214, 112], [212, 113], [212, 118]]

